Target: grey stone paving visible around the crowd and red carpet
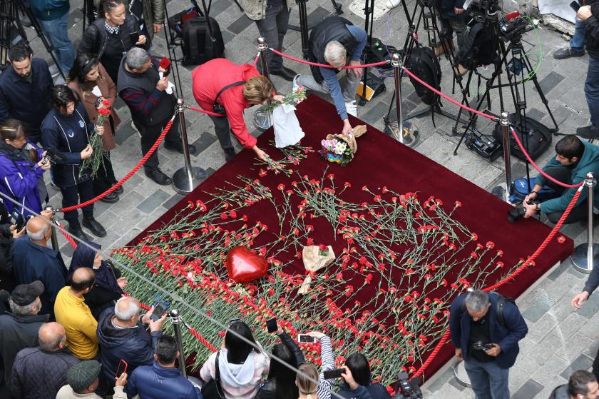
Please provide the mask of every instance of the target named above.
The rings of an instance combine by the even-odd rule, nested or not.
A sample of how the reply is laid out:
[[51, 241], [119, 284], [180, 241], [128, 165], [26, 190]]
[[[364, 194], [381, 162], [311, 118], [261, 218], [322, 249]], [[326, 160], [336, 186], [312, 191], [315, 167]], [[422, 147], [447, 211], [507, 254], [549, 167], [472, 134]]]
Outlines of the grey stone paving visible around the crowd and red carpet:
[[[71, 29], [70, 37], [77, 45], [82, 32], [81, 0], [71, 1]], [[345, 11], [344, 17], [353, 21], [354, 24], [363, 25], [364, 18], [351, 14], [349, 2], [342, 1]], [[408, 3], [409, 9], [413, 9], [414, 1]], [[168, 1], [168, 12], [175, 14], [190, 6], [187, 0]], [[506, 11], [513, 11], [511, 9]], [[307, 2], [309, 19], [317, 21], [332, 12], [332, 4], [329, 0], [310, 0]], [[213, 16], [222, 29], [225, 39], [226, 56], [234, 62], [248, 62], [256, 55], [255, 42], [257, 29], [255, 24], [242, 14], [237, 6], [230, 0], [215, 0], [211, 9]], [[292, 11], [291, 23], [298, 24], [299, 17], [297, 9]], [[374, 36], [382, 39], [384, 43], [401, 48], [406, 38], [406, 19], [401, 6], [391, 10], [379, 21], [374, 22]], [[421, 38], [426, 35], [421, 31]], [[557, 61], [551, 57], [551, 53], [567, 42], [557, 33], [540, 28], [538, 31], [529, 32], [524, 36], [524, 48], [531, 59], [531, 63], [538, 69], [538, 79], [546, 94], [549, 107], [556, 117], [556, 121], [563, 133], [573, 133], [575, 128], [588, 123], [588, 108], [583, 95], [583, 82], [588, 63], [588, 56], [574, 59]], [[49, 60], [46, 51], [41, 46], [41, 41], [33, 41], [36, 56]], [[285, 49], [288, 54], [301, 55], [301, 41], [297, 31], [289, 31], [285, 36]], [[155, 54], [165, 54], [165, 40], [161, 33], [155, 39], [153, 45]], [[178, 54], [180, 51], [178, 50]], [[299, 73], [309, 73], [307, 66], [300, 64], [285, 64]], [[452, 81], [449, 63], [441, 58], [444, 77], [441, 85], [442, 91], [451, 94]], [[188, 103], [193, 103], [191, 96], [191, 74], [193, 67], [180, 67], [180, 79], [183, 83], [183, 93]], [[489, 76], [491, 70], [483, 71]], [[289, 91], [290, 84], [275, 76], [273, 82], [280, 91]], [[386, 113], [392, 91], [393, 79], [386, 79], [387, 91], [375, 97], [365, 106], [358, 108], [359, 117], [371, 123], [377, 128], [383, 128], [382, 116]], [[471, 100], [476, 100], [476, 80], [471, 84]], [[402, 84], [404, 92], [404, 106], [406, 113], [414, 109], [420, 109], [423, 104], [419, 102], [413, 87], [404, 79]], [[481, 87], [483, 91], [484, 85]], [[504, 93], [508, 109], [513, 111], [513, 103], [509, 92]], [[459, 92], [454, 94], [459, 99]], [[492, 111], [498, 112], [498, 91], [491, 92]], [[538, 93], [531, 82], [526, 85], [526, 100], [528, 116], [539, 119], [551, 126], [546, 108], [541, 102]], [[138, 133], [131, 126], [127, 107], [122, 101], [117, 101], [118, 110], [123, 123], [116, 135], [118, 148], [112, 151], [113, 165], [116, 176], [124, 176], [141, 158]], [[456, 107], [446, 105], [447, 111], [456, 112]], [[246, 113], [249, 120], [251, 112]], [[187, 111], [185, 114], [188, 123], [188, 134], [190, 142], [197, 148], [198, 152], [192, 156], [195, 166], [205, 168], [208, 173], [216, 171], [222, 163], [224, 156], [217, 143], [213, 125], [209, 118]], [[464, 146], [461, 147], [457, 156], [454, 156], [454, 147], [458, 138], [451, 136], [453, 121], [443, 116], [436, 116], [436, 126], [431, 118], [426, 116], [413, 120], [419, 129], [420, 141], [416, 151], [424, 153], [434, 161], [443, 164], [452, 171], [459, 173], [476, 183], [481, 188], [491, 190], [498, 182], [503, 181], [503, 166], [501, 159], [490, 163], [475, 155]], [[251, 126], [251, 125], [249, 125]], [[488, 121], [478, 121], [478, 128], [490, 133], [492, 126]], [[254, 134], [258, 134], [257, 131]], [[240, 149], [237, 146], [237, 149]], [[538, 161], [543, 164], [551, 157], [553, 151], [547, 151]], [[160, 148], [160, 167], [166, 173], [172, 175], [175, 170], [183, 166], [183, 158], [174, 153]], [[522, 176], [524, 165], [521, 161], [514, 160], [514, 176]], [[416, 171], [406, 170], [406, 173]], [[124, 184], [125, 192], [121, 200], [115, 204], [96, 203], [96, 216], [108, 231], [108, 236], [96, 240], [103, 245], [106, 251], [111, 248], [123, 246], [142, 231], [146, 226], [162, 215], [168, 208], [173, 206], [180, 198], [170, 186], [158, 186], [148, 181], [143, 173], [136, 173]], [[60, 196], [52, 188], [51, 203], [60, 205]], [[575, 239], [575, 243], [585, 241], [585, 226], [576, 223], [562, 229], [563, 233]], [[541, 238], [535, 238], [541, 242]], [[63, 238], [61, 251], [67, 258], [71, 256], [72, 249]], [[518, 362], [511, 369], [511, 392], [513, 398], [547, 398], [551, 390], [565, 383], [573, 370], [580, 368], [588, 369], [597, 352], [599, 342], [599, 317], [595, 313], [599, 310], [599, 295], [591, 296], [588, 303], [581, 310], [570, 308], [570, 298], [580, 292], [585, 281], [585, 275], [574, 271], [569, 261], [566, 261], [548, 273], [545, 278], [530, 292], [518, 298], [517, 303], [523, 312], [530, 331], [528, 336], [521, 341], [521, 354]], [[469, 388], [456, 383], [451, 370], [441, 370], [438, 375], [431, 378], [424, 386], [426, 398], [473, 398]]]

